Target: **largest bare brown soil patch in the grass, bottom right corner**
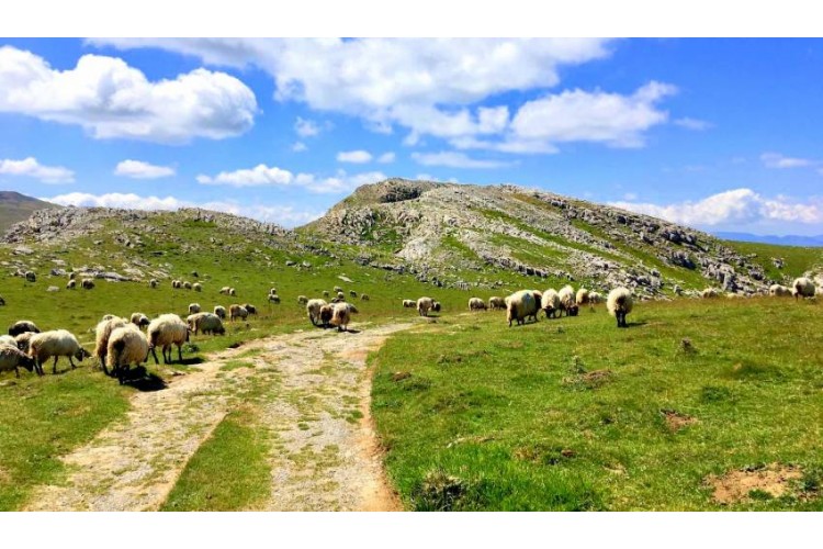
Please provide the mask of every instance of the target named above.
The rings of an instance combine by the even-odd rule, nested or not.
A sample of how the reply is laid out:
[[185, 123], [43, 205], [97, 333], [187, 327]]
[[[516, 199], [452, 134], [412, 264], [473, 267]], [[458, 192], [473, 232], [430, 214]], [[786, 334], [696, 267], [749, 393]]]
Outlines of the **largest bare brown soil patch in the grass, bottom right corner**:
[[771, 497], [780, 497], [793, 491], [796, 481], [802, 478], [800, 468], [770, 463], [758, 468], [745, 468], [729, 471], [722, 477], [710, 475], [708, 485], [714, 489], [717, 503], [731, 504], [752, 500], [753, 492], [765, 492]]

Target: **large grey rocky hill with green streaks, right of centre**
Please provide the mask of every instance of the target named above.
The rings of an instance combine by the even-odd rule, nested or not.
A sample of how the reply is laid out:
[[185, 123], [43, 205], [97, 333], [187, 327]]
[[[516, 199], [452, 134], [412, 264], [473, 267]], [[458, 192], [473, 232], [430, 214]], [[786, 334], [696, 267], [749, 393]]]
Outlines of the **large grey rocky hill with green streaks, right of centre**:
[[361, 247], [363, 261], [461, 283], [488, 267], [641, 294], [755, 293], [764, 269], [706, 233], [616, 208], [515, 186], [390, 179], [359, 188], [298, 229]]

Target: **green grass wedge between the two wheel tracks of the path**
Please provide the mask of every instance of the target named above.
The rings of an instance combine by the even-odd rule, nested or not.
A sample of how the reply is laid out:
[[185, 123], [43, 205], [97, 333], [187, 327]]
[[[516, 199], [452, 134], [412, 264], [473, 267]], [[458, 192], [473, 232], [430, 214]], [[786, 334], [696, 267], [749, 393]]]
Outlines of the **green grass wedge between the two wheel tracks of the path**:
[[160, 511], [243, 511], [270, 492], [263, 430], [248, 407], [217, 425], [187, 463]]

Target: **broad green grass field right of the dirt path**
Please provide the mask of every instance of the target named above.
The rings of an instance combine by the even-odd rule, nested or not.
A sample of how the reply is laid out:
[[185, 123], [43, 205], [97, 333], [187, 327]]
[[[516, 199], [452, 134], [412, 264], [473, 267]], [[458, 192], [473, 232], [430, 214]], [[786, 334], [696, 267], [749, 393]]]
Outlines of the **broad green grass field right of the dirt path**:
[[[503, 313], [466, 315], [392, 338], [372, 357], [388, 474], [409, 509], [821, 511], [816, 489], [723, 507], [704, 484], [751, 463], [820, 471], [821, 313], [644, 302], [628, 329], [598, 307], [512, 328]], [[664, 411], [697, 423], [673, 432]]]

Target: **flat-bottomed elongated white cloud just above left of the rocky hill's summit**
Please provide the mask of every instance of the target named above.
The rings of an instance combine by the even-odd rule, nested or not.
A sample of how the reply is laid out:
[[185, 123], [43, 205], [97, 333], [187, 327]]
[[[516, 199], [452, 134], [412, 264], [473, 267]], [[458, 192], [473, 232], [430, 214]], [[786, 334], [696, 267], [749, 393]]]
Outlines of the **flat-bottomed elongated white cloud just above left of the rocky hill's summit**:
[[235, 171], [221, 171], [216, 176], [198, 176], [201, 184], [224, 184], [230, 187], [301, 187], [318, 194], [350, 192], [361, 184], [375, 183], [386, 179], [381, 171], [349, 175], [338, 170], [335, 176], [323, 177], [315, 173], [293, 173], [277, 166], [259, 164], [253, 168]]

